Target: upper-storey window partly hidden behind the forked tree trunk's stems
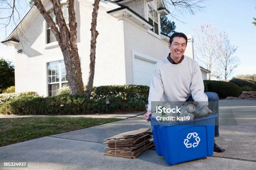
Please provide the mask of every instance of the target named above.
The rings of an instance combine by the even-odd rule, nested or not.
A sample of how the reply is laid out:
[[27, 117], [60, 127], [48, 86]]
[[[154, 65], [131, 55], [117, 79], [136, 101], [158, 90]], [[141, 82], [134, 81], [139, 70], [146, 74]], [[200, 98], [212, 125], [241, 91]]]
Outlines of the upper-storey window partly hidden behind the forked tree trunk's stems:
[[[62, 4], [61, 5], [61, 11], [63, 13], [63, 17], [65, 19], [65, 22], [69, 23], [69, 13], [68, 13], [68, 8], [67, 8], [67, 4]], [[51, 16], [51, 18], [54, 20], [54, 22], [56, 23], [56, 16], [54, 15], [54, 10], [53, 8], [51, 10], [48, 11], [49, 15]], [[57, 25], [56, 25], [57, 26]], [[57, 26], [58, 27], [58, 26]], [[49, 24], [47, 23], [47, 44], [57, 41], [56, 37], [54, 36], [54, 33], [51, 31], [51, 27], [49, 26]]]

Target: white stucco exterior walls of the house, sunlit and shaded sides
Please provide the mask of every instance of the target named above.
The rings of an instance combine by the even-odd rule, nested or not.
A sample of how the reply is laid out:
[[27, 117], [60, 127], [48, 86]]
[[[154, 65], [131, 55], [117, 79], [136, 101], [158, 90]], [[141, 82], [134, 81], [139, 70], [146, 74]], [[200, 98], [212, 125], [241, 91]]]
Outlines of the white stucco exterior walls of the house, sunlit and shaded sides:
[[[75, 1], [77, 46], [84, 84], [87, 83], [89, 74], [93, 2], [92, 0]], [[130, 8], [133, 9], [142, 4], [130, 4]], [[47, 9], [51, 8], [50, 3], [45, 6]], [[167, 57], [169, 53], [168, 42], [160, 40], [160, 36], [156, 37], [147, 30], [138, 28], [132, 22], [118, 20], [106, 13], [117, 7], [110, 2], [100, 2], [94, 86], [134, 84], [133, 54], [141, 54], [157, 61]], [[135, 12], [138, 11], [135, 10]], [[29, 22], [27, 28], [23, 27], [26, 38], [22, 35], [13, 36], [20, 40], [15, 50], [23, 49], [20, 54], [15, 52], [15, 91], [36, 91], [39, 95], [48, 96], [47, 63], [63, 60], [63, 56], [56, 42], [46, 45], [46, 22], [41, 14], [30, 17], [34, 19]], [[144, 17], [147, 19], [147, 16]], [[188, 42], [185, 54], [191, 56], [192, 50], [192, 42]], [[203, 70], [202, 76], [204, 80], [207, 79], [206, 72]]]

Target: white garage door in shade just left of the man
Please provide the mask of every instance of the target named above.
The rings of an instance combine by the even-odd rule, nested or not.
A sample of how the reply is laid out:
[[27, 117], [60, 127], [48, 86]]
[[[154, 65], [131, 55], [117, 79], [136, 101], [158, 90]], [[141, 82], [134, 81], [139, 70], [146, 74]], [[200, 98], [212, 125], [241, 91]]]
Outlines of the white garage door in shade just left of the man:
[[150, 86], [155, 64], [155, 61], [146, 60], [135, 55], [133, 60], [133, 84]]

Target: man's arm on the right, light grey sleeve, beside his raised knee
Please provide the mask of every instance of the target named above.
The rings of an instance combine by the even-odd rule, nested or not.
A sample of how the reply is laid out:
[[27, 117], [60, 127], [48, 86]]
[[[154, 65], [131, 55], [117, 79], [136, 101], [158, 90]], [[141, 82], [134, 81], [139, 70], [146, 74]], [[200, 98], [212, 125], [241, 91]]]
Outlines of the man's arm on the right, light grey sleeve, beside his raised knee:
[[192, 74], [191, 85], [189, 89], [191, 91], [192, 98], [195, 101], [204, 102], [204, 104], [208, 105], [208, 97], [204, 93], [205, 86], [202, 80], [201, 69], [197, 62], [196, 62], [195, 70]]

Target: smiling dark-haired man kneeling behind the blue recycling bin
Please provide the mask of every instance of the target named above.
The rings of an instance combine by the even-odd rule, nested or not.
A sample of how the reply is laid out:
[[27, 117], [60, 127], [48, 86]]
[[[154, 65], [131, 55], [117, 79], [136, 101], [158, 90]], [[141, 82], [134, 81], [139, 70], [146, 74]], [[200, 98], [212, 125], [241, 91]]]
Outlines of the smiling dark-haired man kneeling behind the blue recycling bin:
[[[168, 57], [157, 62], [148, 95], [148, 112], [144, 119], [151, 115], [151, 101], [198, 101], [215, 102], [213, 109], [218, 113], [218, 95], [215, 92], [204, 93], [202, 73], [198, 63], [184, 55], [187, 47], [187, 36], [182, 32], [175, 32], [169, 40], [170, 53]], [[215, 120], [215, 137], [219, 136], [218, 118]], [[216, 145], [215, 152], [225, 149]]]

